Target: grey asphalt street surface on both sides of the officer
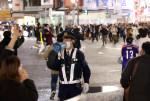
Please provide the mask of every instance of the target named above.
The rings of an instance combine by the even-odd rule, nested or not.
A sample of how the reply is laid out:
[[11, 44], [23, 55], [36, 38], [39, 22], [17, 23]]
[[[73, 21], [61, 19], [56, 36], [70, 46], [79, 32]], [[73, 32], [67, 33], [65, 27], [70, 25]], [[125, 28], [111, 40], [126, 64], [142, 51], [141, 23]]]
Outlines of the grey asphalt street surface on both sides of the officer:
[[[39, 92], [38, 101], [49, 101], [51, 73], [43, 56], [37, 54], [37, 49], [31, 49], [34, 43], [35, 38], [26, 37], [24, 44], [18, 49], [18, 56], [22, 60], [23, 68], [35, 82]], [[117, 62], [122, 45], [124, 45], [122, 39], [117, 45], [108, 43], [106, 46], [102, 46], [101, 40], [95, 43], [89, 40], [82, 41], [81, 50], [85, 53], [92, 72], [91, 92], [86, 94], [88, 99], [86, 101], [122, 101], [121, 64]]]

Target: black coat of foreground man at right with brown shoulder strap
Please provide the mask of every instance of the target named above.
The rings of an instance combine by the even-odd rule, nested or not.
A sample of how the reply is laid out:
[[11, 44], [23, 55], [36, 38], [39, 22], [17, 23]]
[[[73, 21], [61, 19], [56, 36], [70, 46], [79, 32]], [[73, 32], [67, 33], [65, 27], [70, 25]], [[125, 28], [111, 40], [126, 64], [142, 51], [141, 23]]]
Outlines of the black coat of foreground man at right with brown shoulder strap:
[[[121, 85], [127, 88], [137, 58], [131, 59], [124, 69], [121, 77]], [[130, 101], [150, 101], [150, 56], [143, 55], [139, 58], [139, 64], [130, 87]]]

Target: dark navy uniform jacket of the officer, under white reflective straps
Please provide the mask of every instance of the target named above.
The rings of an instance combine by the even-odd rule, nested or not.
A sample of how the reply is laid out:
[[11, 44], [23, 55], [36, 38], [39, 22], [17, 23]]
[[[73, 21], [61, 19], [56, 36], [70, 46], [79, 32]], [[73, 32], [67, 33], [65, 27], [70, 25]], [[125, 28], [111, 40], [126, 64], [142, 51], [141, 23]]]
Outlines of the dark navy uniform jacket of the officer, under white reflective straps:
[[[80, 51], [80, 50], [77, 50], [77, 53], [76, 53], [76, 60], [75, 61], [72, 56], [73, 56], [73, 53], [74, 53], [74, 50], [75, 49], [72, 49], [72, 52], [70, 54], [70, 58], [67, 58], [66, 56], [66, 50], [64, 50], [64, 59], [58, 59], [58, 55], [54, 56], [54, 55], [51, 55], [51, 57], [49, 58], [50, 60], [53, 60], [51, 63], [51, 69], [52, 70], [56, 70], [56, 71], [59, 71], [59, 79], [61, 81], [64, 80], [63, 78], [63, 73], [62, 73], [62, 65], [65, 65], [65, 71], [66, 71], [66, 77], [67, 79], [69, 80], [70, 79], [70, 72], [67, 73], [67, 71], [70, 71], [71, 69], [71, 64], [75, 63], [75, 67], [74, 67], [74, 77], [73, 77], [73, 80], [78, 80], [78, 79], [81, 79], [82, 77], [82, 73], [83, 73], [83, 78], [84, 78], [84, 82], [85, 83], [89, 83], [89, 79], [90, 79], [90, 76], [91, 76], [91, 71], [90, 71], [90, 68], [85, 60], [85, 57], [84, 57], [84, 54]], [[54, 60], [54, 57], [55, 57], [55, 60]], [[51, 59], [52, 58], [52, 59]], [[69, 68], [68, 68], [69, 66]]]

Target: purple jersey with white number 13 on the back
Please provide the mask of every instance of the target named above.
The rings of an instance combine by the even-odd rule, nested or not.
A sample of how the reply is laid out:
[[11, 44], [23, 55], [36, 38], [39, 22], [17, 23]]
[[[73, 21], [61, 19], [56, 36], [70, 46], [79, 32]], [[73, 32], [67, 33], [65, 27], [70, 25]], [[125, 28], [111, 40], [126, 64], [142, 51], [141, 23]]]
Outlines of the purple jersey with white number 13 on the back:
[[138, 54], [139, 49], [135, 45], [124, 45], [122, 47], [122, 57], [123, 57], [123, 64], [122, 64], [122, 70], [126, 67], [128, 61], [132, 59], [133, 57], [136, 57], [136, 54]]

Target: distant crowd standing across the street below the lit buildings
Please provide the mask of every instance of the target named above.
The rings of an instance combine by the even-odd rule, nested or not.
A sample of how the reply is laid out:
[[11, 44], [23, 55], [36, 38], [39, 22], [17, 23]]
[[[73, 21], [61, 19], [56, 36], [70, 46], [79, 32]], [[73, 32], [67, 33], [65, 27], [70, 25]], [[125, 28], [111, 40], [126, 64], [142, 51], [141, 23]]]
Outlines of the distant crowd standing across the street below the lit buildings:
[[[47, 24], [46, 24], [47, 25]], [[43, 25], [45, 26], [45, 25]], [[48, 26], [49, 27], [49, 26]], [[43, 28], [43, 27], [42, 27]], [[44, 27], [45, 28], [45, 27]], [[45, 34], [43, 28], [43, 34]], [[107, 44], [108, 39], [110, 42], [116, 44], [119, 41], [119, 38], [123, 38], [124, 43], [126, 38], [131, 36], [134, 39], [139, 39], [139, 29], [145, 29], [148, 36], [150, 36], [150, 25], [147, 23], [140, 24], [88, 24], [88, 25], [66, 25], [65, 28], [62, 28], [61, 24], [57, 24], [56, 28], [54, 26], [49, 27], [52, 35], [58, 35], [63, 31], [75, 32], [78, 31], [83, 36], [84, 39], [89, 39], [92, 42], [96, 39], [99, 41], [102, 38], [103, 45]], [[38, 28], [37, 28], [38, 29]], [[46, 36], [46, 34], [45, 34]]]

